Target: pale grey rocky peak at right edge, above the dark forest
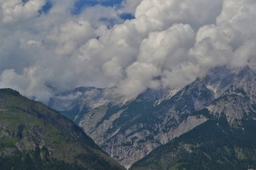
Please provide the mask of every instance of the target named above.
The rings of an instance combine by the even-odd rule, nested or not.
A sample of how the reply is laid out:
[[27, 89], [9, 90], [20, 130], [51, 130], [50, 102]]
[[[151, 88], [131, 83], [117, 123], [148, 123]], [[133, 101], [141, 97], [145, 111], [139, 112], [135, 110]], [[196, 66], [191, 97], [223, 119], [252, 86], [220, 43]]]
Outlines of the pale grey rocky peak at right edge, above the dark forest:
[[256, 74], [250, 67], [240, 69], [233, 77], [223, 94], [213, 101], [207, 108], [211, 114], [225, 116], [230, 125], [239, 123], [240, 120], [256, 119]]

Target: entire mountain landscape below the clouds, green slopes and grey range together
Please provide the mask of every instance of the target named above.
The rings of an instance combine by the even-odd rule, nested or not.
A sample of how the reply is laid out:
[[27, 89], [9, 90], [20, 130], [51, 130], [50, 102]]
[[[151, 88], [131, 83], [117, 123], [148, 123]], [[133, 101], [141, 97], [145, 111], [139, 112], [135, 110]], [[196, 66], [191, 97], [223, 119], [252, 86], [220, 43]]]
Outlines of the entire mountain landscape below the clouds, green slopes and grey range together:
[[0, 89], [0, 169], [252, 169], [255, 70], [215, 67], [136, 98], [79, 87], [48, 103], [67, 118]]

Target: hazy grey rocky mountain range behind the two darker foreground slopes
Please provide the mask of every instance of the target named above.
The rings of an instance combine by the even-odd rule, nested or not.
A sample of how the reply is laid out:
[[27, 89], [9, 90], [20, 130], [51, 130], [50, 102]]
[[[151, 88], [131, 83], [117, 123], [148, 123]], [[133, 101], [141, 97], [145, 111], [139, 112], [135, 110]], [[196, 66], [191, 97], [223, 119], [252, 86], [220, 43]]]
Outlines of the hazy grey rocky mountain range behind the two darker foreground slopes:
[[255, 75], [254, 67], [215, 67], [183, 88], [147, 89], [132, 99], [118, 96], [114, 88], [80, 87], [56, 94], [48, 106], [74, 120], [128, 169], [159, 146], [210, 121], [224, 117], [228, 132], [243, 127], [247, 120], [253, 124]]

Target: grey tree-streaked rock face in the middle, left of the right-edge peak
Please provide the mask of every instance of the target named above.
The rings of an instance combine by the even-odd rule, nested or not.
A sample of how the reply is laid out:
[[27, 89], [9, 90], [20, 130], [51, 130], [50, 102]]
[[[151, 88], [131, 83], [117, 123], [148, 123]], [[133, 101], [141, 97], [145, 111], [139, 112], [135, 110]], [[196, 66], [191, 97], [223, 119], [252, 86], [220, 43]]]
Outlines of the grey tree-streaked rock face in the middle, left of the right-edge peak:
[[161, 102], [149, 97], [152, 91], [145, 91], [121, 107], [112, 103], [100, 106], [85, 113], [79, 125], [105, 152], [129, 168], [156, 147], [207, 120], [190, 116], [215, 99], [202, 82], [198, 79], [174, 96], [170, 91], [166, 95], [159, 92], [166, 96]]

